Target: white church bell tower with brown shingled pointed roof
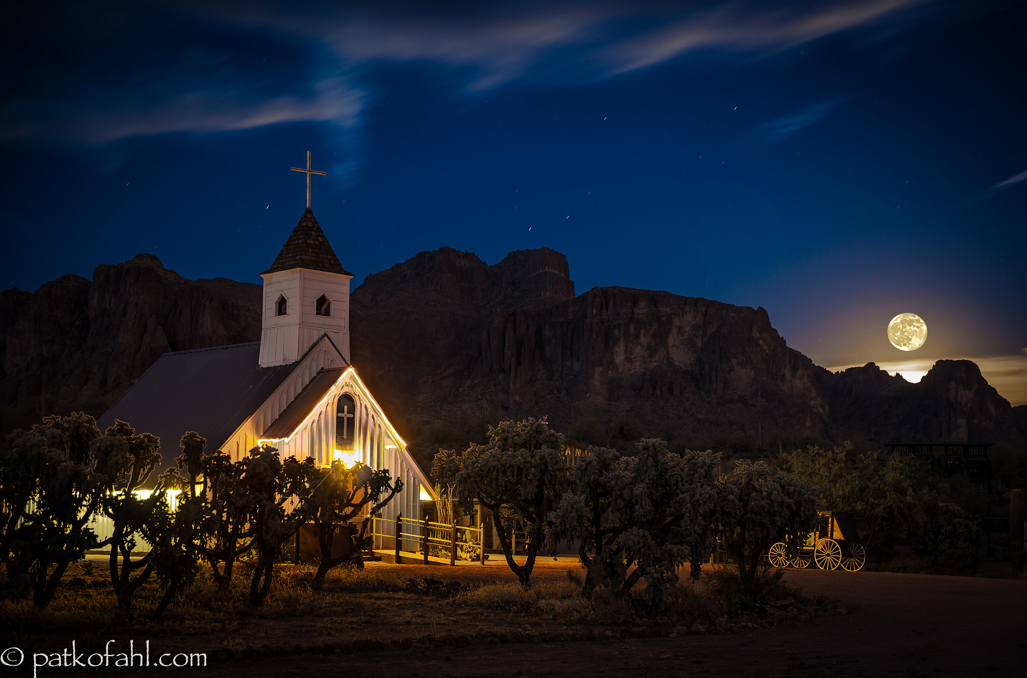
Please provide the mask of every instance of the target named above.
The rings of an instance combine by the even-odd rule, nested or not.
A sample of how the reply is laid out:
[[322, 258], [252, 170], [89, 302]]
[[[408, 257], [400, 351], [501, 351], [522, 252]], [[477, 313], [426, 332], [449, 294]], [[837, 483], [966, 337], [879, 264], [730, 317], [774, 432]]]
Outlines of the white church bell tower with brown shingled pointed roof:
[[349, 363], [349, 279], [307, 208], [264, 278], [260, 365], [288, 365], [327, 334]]

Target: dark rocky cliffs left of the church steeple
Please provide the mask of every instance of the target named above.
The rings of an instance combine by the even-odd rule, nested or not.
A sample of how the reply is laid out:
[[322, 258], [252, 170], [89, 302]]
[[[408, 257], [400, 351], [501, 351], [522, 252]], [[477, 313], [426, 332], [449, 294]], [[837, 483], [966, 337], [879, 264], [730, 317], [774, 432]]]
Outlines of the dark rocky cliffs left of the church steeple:
[[0, 393], [58, 410], [109, 405], [166, 351], [260, 339], [261, 290], [226, 278], [190, 280], [153, 255], [65, 275], [35, 294], [0, 293]]

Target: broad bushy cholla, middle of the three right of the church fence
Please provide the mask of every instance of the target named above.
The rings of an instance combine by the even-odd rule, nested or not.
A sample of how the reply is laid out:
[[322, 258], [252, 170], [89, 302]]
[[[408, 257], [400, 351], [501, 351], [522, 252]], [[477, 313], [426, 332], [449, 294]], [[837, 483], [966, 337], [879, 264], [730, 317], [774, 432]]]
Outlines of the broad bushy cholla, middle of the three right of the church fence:
[[678, 568], [690, 563], [697, 577], [709, 558], [721, 507], [718, 460], [709, 451], [678, 456], [656, 439], [636, 448], [635, 456], [606, 448], [581, 456], [569, 472], [554, 532], [579, 542], [585, 594], [602, 586], [626, 595], [642, 579], [658, 610], [677, 586]]

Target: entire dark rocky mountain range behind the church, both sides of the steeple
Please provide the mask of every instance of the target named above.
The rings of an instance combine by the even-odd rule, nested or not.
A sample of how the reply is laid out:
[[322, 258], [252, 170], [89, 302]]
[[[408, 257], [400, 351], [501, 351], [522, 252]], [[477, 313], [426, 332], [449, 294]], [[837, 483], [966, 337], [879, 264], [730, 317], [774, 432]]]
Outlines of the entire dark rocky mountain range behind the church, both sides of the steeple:
[[[58, 409], [113, 402], [161, 353], [260, 338], [260, 288], [189, 280], [151, 255], [65, 275], [35, 294], [0, 293], [0, 394], [51, 394]], [[763, 308], [667, 292], [594, 288], [575, 296], [566, 258], [423, 252], [351, 295], [352, 360], [401, 432], [434, 422], [630, 413], [647, 435], [879, 442], [1027, 439], [967, 361], [917, 384], [873, 364], [832, 374], [789, 348]], [[102, 409], [102, 408], [101, 408]], [[462, 424], [460, 422], [463, 422]]]

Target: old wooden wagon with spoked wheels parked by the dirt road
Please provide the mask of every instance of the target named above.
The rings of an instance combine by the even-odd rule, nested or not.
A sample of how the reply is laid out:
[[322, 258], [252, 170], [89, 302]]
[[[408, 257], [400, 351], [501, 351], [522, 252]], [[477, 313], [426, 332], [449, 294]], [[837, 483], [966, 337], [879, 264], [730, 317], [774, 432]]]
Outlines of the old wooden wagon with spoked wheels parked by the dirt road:
[[791, 557], [788, 544], [777, 541], [770, 545], [770, 564], [774, 567], [809, 567], [812, 562], [822, 570], [833, 570], [841, 566], [843, 570], [855, 572], [867, 562], [867, 551], [860, 543], [860, 533], [852, 524], [852, 515], [838, 511], [821, 511], [820, 526]]

